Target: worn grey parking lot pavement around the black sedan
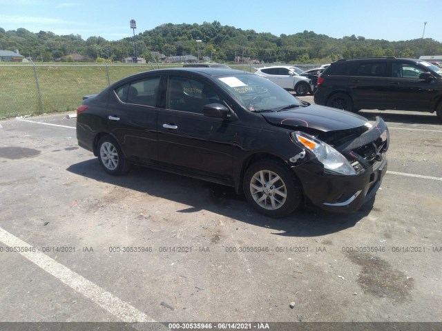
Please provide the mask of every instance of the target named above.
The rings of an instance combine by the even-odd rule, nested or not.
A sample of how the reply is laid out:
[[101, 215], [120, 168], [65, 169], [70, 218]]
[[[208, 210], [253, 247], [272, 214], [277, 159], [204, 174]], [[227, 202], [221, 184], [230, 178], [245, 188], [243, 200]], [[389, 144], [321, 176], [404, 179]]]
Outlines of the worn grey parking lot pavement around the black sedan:
[[221, 185], [111, 177], [66, 114], [0, 121], [0, 322], [442, 322], [442, 126], [361, 114], [391, 134], [374, 204], [278, 220]]

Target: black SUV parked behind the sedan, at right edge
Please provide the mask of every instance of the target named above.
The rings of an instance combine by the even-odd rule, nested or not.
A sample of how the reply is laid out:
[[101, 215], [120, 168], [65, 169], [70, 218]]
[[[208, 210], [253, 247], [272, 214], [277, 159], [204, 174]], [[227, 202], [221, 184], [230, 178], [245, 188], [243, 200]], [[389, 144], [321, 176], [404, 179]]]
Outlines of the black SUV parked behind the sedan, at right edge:
[[314, 101], [349, 111], [435, 111], [442, 121], [442, 69], [395, 57], [339, 60], [320, 75]]

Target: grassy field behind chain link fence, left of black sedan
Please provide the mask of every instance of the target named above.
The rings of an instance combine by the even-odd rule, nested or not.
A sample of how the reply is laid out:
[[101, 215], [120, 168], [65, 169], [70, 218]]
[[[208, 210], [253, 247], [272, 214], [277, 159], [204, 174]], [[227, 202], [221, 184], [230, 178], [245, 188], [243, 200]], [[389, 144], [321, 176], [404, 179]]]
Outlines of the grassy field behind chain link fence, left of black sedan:
[[[84, 95], [97, 94], [119, 79], [146, 70], [178, 66], [182, 64], [2, 63], [0, 65], [0, 119], [76, 110]], [[247, 72], [255, 71], [255, 66], [249, 64], [229, 66]]]

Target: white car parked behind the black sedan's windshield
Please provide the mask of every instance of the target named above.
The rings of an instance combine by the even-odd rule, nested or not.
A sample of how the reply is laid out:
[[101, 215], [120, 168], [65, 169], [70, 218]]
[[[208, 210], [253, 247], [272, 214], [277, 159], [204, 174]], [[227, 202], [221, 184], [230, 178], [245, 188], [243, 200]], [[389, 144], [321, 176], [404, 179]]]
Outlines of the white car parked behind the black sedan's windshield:
[[[307, 77], [300, 76], [293, 66], [278, 66], [258, 68], [255, 74], [265, 77], [281, 88], [295, 91], [297, 95], [306, 95], [313, 92], [313, 84]], [[302, 71], [302, 70], [301, 70]]]

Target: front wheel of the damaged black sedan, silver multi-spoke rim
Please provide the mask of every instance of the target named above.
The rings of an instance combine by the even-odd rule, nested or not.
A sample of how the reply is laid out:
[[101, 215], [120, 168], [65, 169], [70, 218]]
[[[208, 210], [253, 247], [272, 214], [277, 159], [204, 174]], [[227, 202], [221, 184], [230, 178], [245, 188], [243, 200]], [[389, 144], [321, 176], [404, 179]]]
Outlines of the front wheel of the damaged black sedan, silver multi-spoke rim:
[[247, 169], [243, 190], [253, 208], [273, 218], [288, 216], [302, 201], [294, 173], [284, 163], [271, 159], [260, 160]]

